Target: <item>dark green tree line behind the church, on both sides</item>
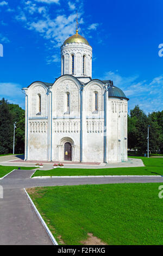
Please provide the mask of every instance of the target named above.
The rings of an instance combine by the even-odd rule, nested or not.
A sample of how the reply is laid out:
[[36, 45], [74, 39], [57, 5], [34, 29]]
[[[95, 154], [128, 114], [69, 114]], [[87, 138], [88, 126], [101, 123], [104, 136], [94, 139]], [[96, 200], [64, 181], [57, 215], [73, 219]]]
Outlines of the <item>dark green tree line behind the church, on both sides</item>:
[[[24, 153], [25, 111], [4, 98], [0, 100], [0, 155], [12, 153], [14, 123], [15, 153]], [[138, 153], [147, 151], [147, 129], [149, 126], [149, 150], [163, 153], [163, 111], [146, 114], [139, 106], [128, 115], [128, 148]]]

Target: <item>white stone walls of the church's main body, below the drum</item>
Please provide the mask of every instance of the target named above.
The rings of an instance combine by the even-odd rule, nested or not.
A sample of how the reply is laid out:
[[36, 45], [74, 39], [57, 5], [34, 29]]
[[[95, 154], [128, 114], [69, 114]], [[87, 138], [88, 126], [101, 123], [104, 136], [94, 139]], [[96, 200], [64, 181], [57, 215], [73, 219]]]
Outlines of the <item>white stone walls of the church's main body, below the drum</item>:
[[[96, 111], [95, 92], [98, 93]], [[103, 83], [98, 80], [90, 81], [83, 89], [83, 162], [104, 161], [104, 92]], [[36, 82], [26, 93], [27, 160], [62, 162], [64, 144], [70, 142], [72, 161], [79, 162], [80, 82], [66, 75], [55, 81], [52, 88]], [[37, 115], [38, 93], [41, 95], [40, 115]], [[70, 94], [69, 112], [65, 107], [66, 93]], [[106, 162], [127, 161], [127, 108], [127, 100], [108, 99], [106, 93]]]

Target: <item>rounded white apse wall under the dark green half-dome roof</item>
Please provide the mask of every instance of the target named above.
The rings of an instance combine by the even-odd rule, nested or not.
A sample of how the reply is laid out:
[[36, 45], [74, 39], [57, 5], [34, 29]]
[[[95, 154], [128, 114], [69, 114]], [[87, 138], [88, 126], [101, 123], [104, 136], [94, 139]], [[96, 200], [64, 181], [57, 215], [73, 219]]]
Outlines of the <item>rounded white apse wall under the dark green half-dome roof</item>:
[[127, 100], [109, 98], [107, 104], [107, 161], [127, 161]]

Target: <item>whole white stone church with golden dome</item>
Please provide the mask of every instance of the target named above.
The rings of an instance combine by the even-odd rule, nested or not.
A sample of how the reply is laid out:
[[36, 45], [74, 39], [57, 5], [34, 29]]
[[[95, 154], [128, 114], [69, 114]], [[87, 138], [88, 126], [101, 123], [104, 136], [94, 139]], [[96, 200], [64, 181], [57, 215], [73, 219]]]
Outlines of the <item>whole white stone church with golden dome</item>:
[[128, 98], [112, 81], [92, 79], [92, 47], [78, 30], [61, 46], [61, 76], [23, 90], [24, 160], [127, 161]]

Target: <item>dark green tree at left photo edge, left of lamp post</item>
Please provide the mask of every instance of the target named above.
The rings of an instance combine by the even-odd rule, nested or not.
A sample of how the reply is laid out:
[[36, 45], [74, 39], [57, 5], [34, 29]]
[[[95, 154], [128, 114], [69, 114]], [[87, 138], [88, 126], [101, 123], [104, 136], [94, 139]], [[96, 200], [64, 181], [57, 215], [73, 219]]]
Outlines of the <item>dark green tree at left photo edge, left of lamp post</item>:
[[12, 150], [13, 120], [9, 111], [9, 103], [0, 100], [0, 154], [8, 154]]

